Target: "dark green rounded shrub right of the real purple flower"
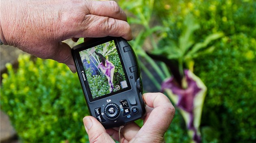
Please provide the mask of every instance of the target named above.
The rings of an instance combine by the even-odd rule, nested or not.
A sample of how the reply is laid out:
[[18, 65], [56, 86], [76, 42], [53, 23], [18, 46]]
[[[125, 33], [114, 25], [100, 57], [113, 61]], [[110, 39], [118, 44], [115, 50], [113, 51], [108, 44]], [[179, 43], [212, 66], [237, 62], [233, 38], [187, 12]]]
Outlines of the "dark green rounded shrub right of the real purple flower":
[[218, 131], [223, 143], [256, 141], [255, 45], [254, 38], [233, 35], [195, 62], [195, 73], [208, 88], [202, 126]]

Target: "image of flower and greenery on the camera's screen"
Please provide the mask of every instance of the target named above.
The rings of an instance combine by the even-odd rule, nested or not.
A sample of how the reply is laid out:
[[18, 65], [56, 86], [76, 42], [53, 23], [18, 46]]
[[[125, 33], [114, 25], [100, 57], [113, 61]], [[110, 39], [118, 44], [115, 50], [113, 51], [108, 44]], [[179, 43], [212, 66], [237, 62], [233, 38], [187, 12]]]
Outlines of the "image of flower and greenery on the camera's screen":
[[128, 87], [114, 40], [79, 54], [93, 99]]

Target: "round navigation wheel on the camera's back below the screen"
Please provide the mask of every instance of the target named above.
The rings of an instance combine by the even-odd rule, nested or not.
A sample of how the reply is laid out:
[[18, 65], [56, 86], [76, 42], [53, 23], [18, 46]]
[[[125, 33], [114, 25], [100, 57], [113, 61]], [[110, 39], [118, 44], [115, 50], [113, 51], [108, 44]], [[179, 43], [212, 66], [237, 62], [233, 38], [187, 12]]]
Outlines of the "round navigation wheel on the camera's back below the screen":
[[104, 113], [107, 118], [114, 119], [117, 118], [117, 116], [119, 116], [120, 110], [115, 103], [109, 103], [105, 106]]

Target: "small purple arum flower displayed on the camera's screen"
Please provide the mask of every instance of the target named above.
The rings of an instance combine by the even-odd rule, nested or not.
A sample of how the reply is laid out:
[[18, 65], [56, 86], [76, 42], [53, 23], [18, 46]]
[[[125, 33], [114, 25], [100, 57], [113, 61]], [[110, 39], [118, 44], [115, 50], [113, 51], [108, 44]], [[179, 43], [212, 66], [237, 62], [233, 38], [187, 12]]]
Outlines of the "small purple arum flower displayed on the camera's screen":
[[108, 79], [109, 92], [112, 93], [114, 89], [113, 77], [114, 77], [115, 65], [113, 65], [113, 63], [111, 63], [106, 59], [105, 65], [101, 62], [99, 63], [98, 68], [100, 68], [100, 70], [104, 73], [104, 75]]

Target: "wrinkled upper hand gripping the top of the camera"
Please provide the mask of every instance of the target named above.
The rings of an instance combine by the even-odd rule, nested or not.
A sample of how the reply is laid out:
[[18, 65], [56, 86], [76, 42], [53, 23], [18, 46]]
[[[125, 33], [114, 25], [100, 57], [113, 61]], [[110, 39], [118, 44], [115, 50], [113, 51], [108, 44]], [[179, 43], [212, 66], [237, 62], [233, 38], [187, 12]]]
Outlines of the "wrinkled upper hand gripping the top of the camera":
[[0, 39], [5, 45], [65, 63], [75, 72], [63, 40], [115, 36], [132, 40], [126, 14], [114, 1], [0, 0]]

